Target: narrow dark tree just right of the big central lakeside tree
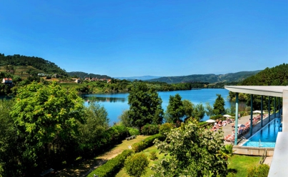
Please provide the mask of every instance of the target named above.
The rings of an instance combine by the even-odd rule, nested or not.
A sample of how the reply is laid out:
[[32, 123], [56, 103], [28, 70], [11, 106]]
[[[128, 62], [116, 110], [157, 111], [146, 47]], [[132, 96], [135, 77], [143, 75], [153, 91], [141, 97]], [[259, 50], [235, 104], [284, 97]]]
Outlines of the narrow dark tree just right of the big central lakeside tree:
[[[185, 101], [185, 103], [187, 103], [187, 101]], [[179, 93], [175, 96], [170, 96], [166, 116], [166, 121], [170, 123], [176, 123], [176, 121], [180, 121], [182, 117], [185, 116], [185, 109]]]

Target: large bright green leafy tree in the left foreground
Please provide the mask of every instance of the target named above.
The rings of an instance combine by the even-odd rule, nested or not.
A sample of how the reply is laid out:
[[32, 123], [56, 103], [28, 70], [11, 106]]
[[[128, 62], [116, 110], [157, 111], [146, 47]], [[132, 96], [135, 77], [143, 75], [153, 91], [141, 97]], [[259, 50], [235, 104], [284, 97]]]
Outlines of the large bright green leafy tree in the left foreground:
[[45, 168], [52, 161], [64, 160], [61, 157], [67, 161], [73, 158], [78, 122], [84, 122], [83, 100], [77, 92], [55, 82], [48, 86], [33, 82], [19, 89], [15, 100], [11, 116], [24, 141], [21, 163], [26, 164], [26, 170]]

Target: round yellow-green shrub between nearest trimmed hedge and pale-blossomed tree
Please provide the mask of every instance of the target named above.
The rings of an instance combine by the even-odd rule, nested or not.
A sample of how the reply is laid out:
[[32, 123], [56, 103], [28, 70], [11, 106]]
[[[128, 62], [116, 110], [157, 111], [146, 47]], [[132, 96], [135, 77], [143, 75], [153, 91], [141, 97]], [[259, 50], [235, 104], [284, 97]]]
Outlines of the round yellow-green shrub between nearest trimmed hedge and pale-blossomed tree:
[[146, 173], [149, 161], [144, 153], [136, 153], [125, 161], [125, 171], [129, 176], [140, 177]]

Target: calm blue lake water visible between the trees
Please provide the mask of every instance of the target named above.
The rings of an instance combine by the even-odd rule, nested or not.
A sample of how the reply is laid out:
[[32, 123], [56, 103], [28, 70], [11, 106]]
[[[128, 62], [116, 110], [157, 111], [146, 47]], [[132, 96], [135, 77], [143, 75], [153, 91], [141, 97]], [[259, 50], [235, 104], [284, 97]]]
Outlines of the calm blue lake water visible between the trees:
[[[190, 90], [190, 91], [162, 91], [158, 92], [160, 98], [162, 99], [162, 107], [164, 111], [166, 110], [169, 97], [175, 96], [176, 93], [179, 93], [182, 97], [182, 100], [187, 99], [193, 104], [202, 103], [205, 106], [205, 103], [209, 102], [211, 106], [217, 98], [216, 94], [221, 94], [222, 98], [225, 99], [225, 108], [230, 108], [231, 103], [227, 100], [229, 91], [226, 89], [200, 89], [200, 90]], [[87, 100], [97, 100], [106, 110], [108, 111], [108, 118], [110, 119], [110, 125], [113, 125], [114, 122], [118, 122], [118, 116], [120, 116], [124, 110], [129, 109], [128, 105], [128, 95], [129, 93], [105, 93], [105, 94], [83, 94], [82, 97], [86, 100], [85, 105], [88, 106]], [[208, 116], [202, 119], [203, 121], [209, 119]]]

